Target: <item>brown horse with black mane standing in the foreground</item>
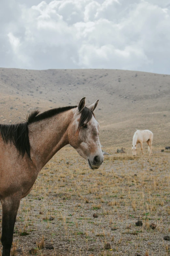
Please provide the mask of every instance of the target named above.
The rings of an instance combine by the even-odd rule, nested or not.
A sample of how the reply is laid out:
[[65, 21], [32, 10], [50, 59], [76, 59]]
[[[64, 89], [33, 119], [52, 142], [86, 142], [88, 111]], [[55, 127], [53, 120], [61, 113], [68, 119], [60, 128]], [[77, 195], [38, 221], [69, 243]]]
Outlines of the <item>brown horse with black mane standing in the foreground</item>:
[[92, 170], [104, 157], [99, 141], [99, 124], [93, 111], [98, 100], [85, 106], [33, 111], [26, 122], [0, 125], [0, 201], [2, 204], [2, 256], [9, 256], [14, 224], [23, 197], [33, 188], [43, 166], [62, 147], [70, 144]]

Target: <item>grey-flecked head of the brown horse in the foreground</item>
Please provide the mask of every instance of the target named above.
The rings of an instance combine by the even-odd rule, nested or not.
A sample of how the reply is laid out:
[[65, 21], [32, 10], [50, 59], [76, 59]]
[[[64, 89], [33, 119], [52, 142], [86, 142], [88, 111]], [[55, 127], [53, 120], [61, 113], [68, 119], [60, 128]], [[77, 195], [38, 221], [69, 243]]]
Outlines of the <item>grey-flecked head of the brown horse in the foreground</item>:
[[97, 104], [98, 100], [87, 108], [85, 97], [82, 98], [73, 110], [74, 117], [68, 130], [70, 145], [87, 160], [91, 169], [98, 169], [104, 160], [99, 141], [99, 124], [93, 114]]

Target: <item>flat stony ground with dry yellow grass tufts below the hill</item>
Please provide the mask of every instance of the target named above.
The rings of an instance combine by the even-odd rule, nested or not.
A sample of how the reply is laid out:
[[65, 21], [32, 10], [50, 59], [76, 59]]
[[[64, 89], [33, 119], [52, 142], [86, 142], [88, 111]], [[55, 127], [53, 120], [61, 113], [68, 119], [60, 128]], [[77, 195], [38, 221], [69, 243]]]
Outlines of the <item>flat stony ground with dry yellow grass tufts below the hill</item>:
[[[170, 152], [153, 148], [149, 157], [145, 148], [144, 157], [140, 150], [133, 157], [130, 149], [104, 150], [110, 155], [98, 170], [90, 170], [70, 146], [43, 168], [21, 200], [13, 255], [17, 248], [22, 250], [17, 255], [30, 255], [37, 246], [35, 255], [43, 256], [169, 255], [164, 236], [170, 234]], [[142, 226], [135, 225], [138, 220]]]

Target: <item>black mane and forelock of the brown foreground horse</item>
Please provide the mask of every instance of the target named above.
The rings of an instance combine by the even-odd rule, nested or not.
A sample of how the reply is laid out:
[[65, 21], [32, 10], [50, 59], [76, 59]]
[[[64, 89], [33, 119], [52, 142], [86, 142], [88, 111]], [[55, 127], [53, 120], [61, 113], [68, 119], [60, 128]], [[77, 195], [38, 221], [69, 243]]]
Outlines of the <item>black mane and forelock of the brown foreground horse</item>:
[[[63, 113], [64, 111], [68, 111], [70, 109], [77, 108], [77, 106], [68, 106], [63, 108], [56, 108], [45, 111], [43, 113], [39, 113], [38, 110], [31, 112], [27, 118], [26, 122], [21, 122], [18, 124], [4, 125], [0, 124], [0, 132], [3, 138], [3, 141], [7, 144], [14, 144], [19, 151], [19, 154], [22, 157], [25, 155], [25, 152], [30, 157], [30, 142], [29, 142], [29, 130], [28, 125], [31, 123], [35, 123], [47, 118], [50, 118], [59, 113]], [[78, 131], [83, 126], [84, 123], [88, 123], [93, 116], [93, 112], [84, 107], [81, 111], [80, 120], [78, 124]]]

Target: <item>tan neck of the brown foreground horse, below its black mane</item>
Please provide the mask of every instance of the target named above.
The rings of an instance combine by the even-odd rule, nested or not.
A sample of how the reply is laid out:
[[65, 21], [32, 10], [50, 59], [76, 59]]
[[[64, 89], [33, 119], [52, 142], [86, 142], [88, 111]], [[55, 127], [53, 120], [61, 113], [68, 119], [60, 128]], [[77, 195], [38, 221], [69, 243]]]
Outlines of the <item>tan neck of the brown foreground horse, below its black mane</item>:
[[31, 159], [39, 171], [57, 151], [69, 144], [67, 128], [72, 117], [70, 110], [29, 125]]

